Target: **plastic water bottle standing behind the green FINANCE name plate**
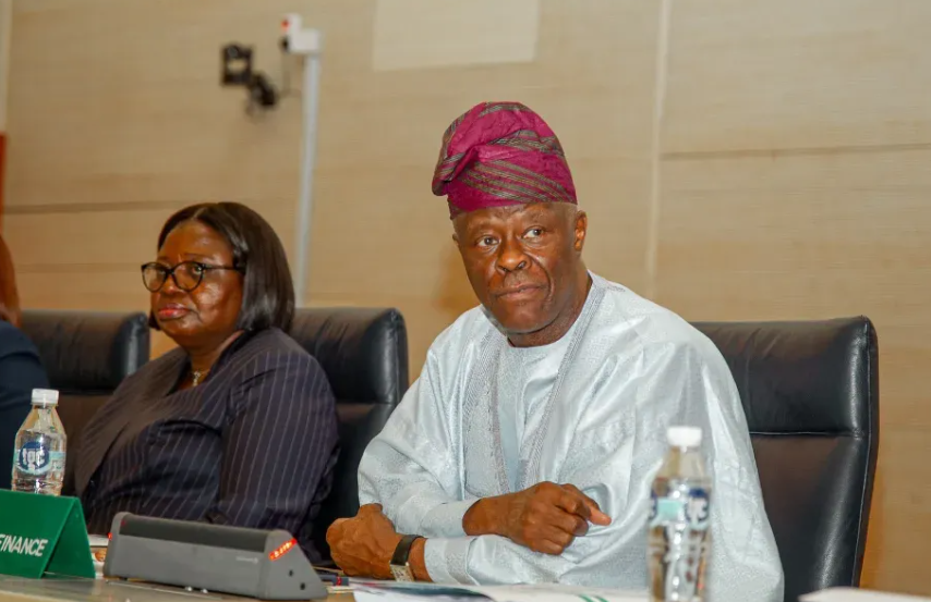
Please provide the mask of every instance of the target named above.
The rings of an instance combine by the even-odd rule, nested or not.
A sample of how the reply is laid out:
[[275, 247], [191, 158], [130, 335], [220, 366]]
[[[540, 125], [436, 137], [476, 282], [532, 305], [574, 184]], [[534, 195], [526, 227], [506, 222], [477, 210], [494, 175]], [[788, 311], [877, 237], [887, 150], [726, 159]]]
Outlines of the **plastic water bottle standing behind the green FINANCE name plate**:
[[16, 433], [13, 489], [60, 495], [64, 480], [64, 427], [56, 411], [58, 391], [33, 390], [33, 409]]

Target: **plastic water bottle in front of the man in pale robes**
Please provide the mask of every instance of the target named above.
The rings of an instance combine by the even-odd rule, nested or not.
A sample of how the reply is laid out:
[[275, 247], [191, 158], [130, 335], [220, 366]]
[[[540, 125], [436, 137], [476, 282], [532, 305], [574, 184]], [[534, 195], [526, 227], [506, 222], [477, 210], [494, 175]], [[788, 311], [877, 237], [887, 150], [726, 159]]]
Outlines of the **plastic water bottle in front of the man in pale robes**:
[[672, 427], [650, 509], [650, 600], [703, 602], [711, 537], [711, 479], [699, 450], [701, 429]]

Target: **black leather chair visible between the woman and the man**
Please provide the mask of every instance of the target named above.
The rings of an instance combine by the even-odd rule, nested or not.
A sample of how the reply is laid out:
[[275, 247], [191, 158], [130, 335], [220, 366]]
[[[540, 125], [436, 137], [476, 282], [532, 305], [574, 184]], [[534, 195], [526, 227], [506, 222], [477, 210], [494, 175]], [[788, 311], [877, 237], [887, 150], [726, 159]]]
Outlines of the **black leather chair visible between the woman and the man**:
[[329, 557], [326, 529], [359, 511], [359, 462], [408, 389], [408, 331], [396, 309], [299, 309], [291, 336], [323, 366], [336, 394], [340, 454], [332, 489], [314, 519], [314, 543]]

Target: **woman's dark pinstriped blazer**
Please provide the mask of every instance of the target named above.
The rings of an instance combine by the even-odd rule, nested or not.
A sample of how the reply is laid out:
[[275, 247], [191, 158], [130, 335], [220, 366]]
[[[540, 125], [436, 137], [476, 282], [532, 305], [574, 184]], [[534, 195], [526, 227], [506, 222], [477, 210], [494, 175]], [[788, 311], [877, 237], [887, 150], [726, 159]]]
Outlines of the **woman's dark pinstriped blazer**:
[[148, 363], [85, 428], [74, 487], [88, 531], [106, 535], [122, 511], [280, 528], [318, 561], [310, 531], [337, 455], [319, 364], [268, 329], [240, 336], [198, 386], [177, 391], [189, 369], [182, 349]]

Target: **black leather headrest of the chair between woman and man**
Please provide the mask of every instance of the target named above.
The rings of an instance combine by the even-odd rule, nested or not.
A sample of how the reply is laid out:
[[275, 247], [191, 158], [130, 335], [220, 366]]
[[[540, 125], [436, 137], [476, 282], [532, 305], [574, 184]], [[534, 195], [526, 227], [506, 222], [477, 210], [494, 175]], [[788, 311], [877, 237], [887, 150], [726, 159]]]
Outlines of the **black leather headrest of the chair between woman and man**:
[[321, 363], [339, 402], [397, 405], [408, 389], [408, 334], [397, 309], [298, 309], [290, 334]]

